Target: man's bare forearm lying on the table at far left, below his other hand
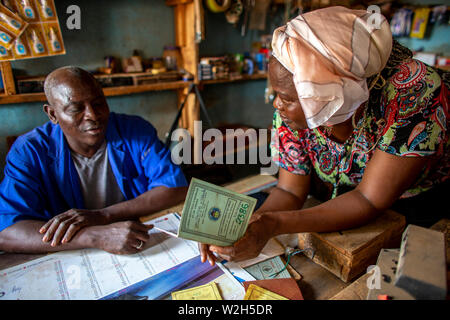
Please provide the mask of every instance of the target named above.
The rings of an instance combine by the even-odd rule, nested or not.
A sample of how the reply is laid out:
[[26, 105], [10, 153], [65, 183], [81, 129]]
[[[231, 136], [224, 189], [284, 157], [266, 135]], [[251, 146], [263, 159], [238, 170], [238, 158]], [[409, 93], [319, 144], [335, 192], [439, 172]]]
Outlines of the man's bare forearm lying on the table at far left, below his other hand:
[[75, 250], [92, 247], [92, 239], [86, 233], [87, 228], [80, 230], [66, 244], [52, 247], [50, 242], [43, 242], [39, 229], [44, 222], [23, 220], [0, 232], [0, 250], [17, 253], [46, 253], [63, 250]]

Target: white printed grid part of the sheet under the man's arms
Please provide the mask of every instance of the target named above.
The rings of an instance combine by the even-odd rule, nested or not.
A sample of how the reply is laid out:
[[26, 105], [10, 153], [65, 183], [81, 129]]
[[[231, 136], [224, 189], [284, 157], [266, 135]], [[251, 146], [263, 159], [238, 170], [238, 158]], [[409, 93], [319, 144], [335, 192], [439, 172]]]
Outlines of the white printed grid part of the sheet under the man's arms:
[[[176, 233], [170, 213], [146, 222]], [[150, 230], [146, 248], [133, 255], [97, 249], [47, 255], [0, 271], [0, 300], [100, 299], [199, 255], [197, 243]]]

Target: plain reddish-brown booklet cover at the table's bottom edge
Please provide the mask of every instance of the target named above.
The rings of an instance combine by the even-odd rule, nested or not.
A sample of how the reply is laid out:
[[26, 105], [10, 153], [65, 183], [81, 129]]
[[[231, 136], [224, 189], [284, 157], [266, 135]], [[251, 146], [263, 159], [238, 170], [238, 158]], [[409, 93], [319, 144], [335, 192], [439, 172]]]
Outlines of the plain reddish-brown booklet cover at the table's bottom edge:
[[293, 278], [245, 281], [243, 284], [246, 291], [251, 284], [254, 284], [289, 300], [304, 300], [297, 281]]

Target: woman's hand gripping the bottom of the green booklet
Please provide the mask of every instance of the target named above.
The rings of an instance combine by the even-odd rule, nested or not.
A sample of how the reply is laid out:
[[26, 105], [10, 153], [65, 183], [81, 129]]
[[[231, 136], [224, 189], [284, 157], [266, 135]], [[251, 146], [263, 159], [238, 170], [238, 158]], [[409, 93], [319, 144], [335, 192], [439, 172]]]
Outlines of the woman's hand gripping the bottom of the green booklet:
[[[202, 262], [217, 253], [227, 261], [243, 261], [257, 257], [270, 238], [275, 236], [275, 222], [265, 213], [254, 213], [250, 218], [247, 231], [244, 236], [232, 246], [220, 247], [215, 245], [200, 244]], [[202, 251], [203, 249], [203, 251]]]

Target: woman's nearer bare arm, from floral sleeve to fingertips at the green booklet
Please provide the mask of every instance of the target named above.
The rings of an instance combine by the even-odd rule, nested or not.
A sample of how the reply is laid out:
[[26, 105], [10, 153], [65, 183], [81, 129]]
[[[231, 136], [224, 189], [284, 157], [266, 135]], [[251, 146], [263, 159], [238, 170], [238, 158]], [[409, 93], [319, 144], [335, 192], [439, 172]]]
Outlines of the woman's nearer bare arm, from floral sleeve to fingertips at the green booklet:
[[279, 234], [331, 232], [366, 224], [414, 183], [427, 161], [426, 157], [398, 157], [377, 150], [353, 191], [312, 208], [260, 214], [233, 246], [209, 249], [227, 260], [239, 261], [256, 257], [265, 243]]

